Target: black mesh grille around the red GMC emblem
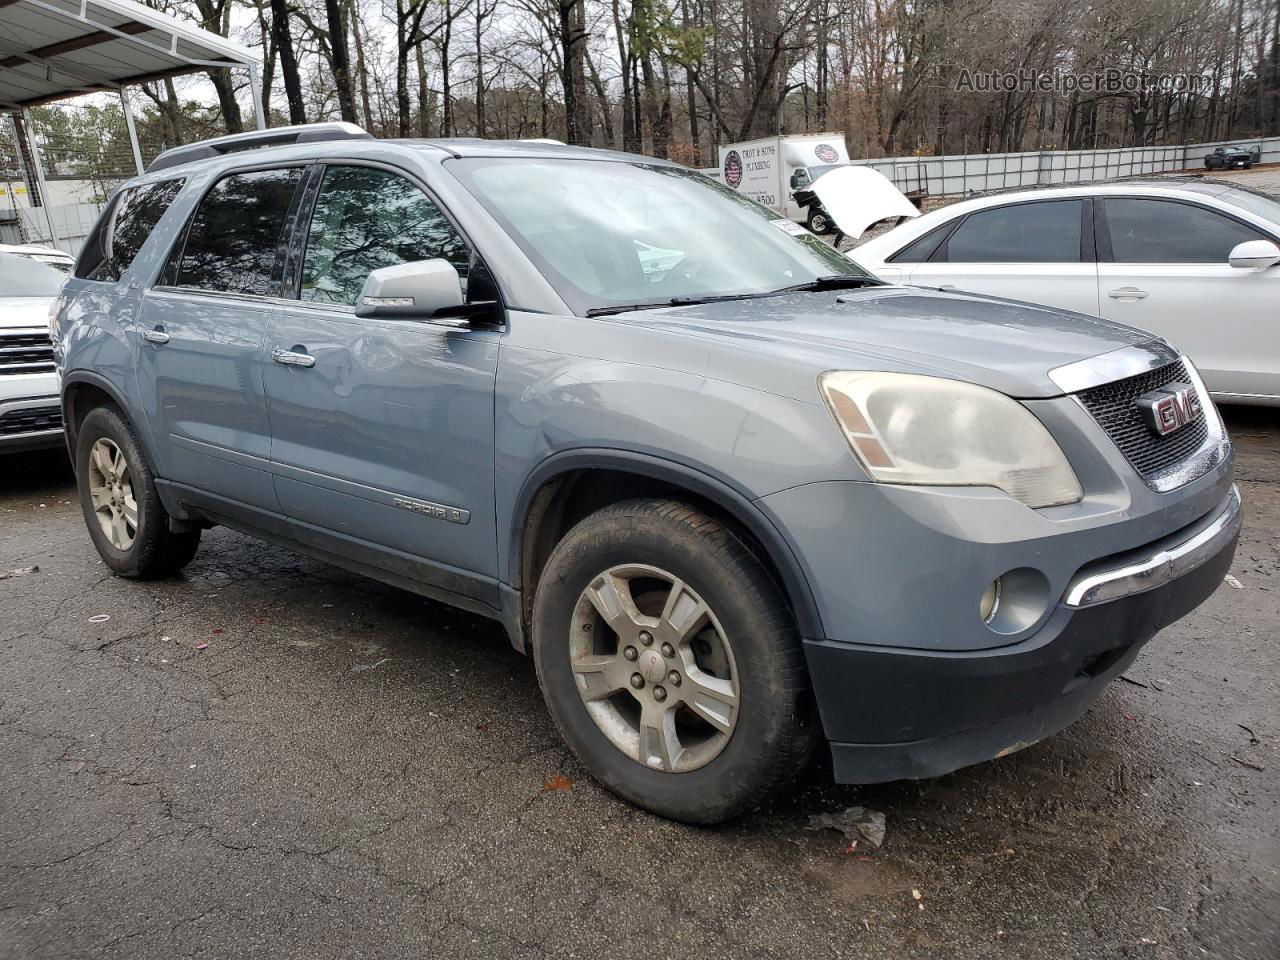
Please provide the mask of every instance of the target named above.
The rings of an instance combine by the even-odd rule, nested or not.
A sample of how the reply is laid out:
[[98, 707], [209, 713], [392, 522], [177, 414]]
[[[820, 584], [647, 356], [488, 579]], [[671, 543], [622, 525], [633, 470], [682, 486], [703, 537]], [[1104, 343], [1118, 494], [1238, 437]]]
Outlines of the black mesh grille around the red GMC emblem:
[[[1075, 396], [1133, 468], [1148, 477], [1199, 449], [1208, 436], [1208, 417], [1201, 413], [1180, 430], [1161, 436], [1147, 425], [1135, 401], [1166, 384], [1190, 381], [1187, 367], [1179, 360], [1158, 370], [1080, 390]], [[1211, 401], [1202, 397], [1201, 402], [1207, 404]]]

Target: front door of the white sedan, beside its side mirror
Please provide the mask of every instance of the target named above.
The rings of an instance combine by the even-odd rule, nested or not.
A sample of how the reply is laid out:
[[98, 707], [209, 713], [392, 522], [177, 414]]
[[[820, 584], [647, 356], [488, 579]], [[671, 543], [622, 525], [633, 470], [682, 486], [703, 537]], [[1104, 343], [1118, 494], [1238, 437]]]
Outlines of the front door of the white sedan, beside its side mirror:
[[1275, 238], [1181, 200], [1107, 197], [1101, 207], [1102, 315], [1169, 339], [1213, 393], [1280, 394], [1280, 269], [1228, 262], [1235, 244]]

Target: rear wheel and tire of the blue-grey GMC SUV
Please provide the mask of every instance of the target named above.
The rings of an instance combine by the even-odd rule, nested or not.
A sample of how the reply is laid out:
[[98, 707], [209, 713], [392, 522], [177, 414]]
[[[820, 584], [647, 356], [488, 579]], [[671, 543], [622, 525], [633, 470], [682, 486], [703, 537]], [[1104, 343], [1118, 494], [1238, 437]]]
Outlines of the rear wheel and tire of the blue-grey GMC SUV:
[[175, 534], [128, 420], [95, 407], [76, 439], [76, 483], [88, 535], [114, 572], [138, 580], [177, 573], [200, 548], [200, 530]]

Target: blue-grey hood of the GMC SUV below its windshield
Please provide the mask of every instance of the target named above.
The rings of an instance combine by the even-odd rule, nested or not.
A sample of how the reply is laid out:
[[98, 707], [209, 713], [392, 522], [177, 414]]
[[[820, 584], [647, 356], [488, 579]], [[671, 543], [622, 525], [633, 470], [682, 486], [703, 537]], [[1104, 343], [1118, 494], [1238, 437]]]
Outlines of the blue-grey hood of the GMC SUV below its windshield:
[[[754, 346], [777, 360], [801, 362], [813, 375], [840, 369], [925, 374], [1018, 398], [1061, 396], [1048, 376], [1055, 367], [1155, 339], [1083, 314], [916, 287], [796, 293], [634, 311], [613, 319], [733, 338], [739, 347]], [[812, 396], [812, 383], [805, 396]]]

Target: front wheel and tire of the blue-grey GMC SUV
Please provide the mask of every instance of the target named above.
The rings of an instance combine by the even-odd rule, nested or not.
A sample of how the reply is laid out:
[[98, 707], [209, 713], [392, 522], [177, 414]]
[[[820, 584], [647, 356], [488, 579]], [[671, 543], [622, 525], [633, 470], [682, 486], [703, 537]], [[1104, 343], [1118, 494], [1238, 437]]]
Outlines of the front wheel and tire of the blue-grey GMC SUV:
[[814, 724], [795, 620], [756, 556], [691, 507], [605, 507], [534, 599], [547, 705], [582, 764], [663, 817], [717, 823], [803, 769]]

